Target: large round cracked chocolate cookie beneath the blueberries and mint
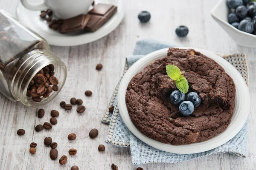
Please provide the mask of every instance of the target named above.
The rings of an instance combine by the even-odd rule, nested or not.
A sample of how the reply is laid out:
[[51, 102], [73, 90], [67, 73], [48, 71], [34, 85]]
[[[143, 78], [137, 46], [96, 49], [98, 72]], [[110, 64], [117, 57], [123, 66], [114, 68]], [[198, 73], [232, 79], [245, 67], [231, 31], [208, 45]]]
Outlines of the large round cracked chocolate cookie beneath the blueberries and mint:
[[[176, 65], [201, 97], [190, 116], [179, 113], [169, 96], [175, 82], [166, 65]], [[193, 49], [169, 48], [167, 56], [147, 65], [130, 81], [126, 106], [131, 121], [144, 135], [173, 145], [203, 142], [230, 124], [236, 97], [233, 79], [214, 60]]]

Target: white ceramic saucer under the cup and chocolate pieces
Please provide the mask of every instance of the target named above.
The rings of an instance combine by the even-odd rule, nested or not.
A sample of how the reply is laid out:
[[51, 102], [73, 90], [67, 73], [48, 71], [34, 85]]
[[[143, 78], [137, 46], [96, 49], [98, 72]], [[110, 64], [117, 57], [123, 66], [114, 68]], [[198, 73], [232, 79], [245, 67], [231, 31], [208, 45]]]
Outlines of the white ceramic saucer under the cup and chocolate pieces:
[[29, 27], [47, 40], [50, 45], [74, 46], [86, 44], [98, 40], [111, 33], [122, 21], [124, 17], [124, 7], [122, 0], [100, 0], [97, 3], [109, 3], [117, 6], [117, 12], [108, 22], [93, 33], [86, 34], [60, 34], [48, 27], [46, 21], [39, 17], [40, 11], [30, 11], [19, 2], [17, 6], [17, 18], [25, 26]]

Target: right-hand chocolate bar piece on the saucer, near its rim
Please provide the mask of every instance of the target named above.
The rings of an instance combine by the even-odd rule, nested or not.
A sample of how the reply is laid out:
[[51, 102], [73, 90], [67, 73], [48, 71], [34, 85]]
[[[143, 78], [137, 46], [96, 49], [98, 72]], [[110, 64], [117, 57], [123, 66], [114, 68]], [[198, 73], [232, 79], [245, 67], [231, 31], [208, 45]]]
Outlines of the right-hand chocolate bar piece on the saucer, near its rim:
[[86, 31], [94, 32], [105, 24], [117, 11], [117, 7], [109, 4], [98, 3], [89, 11], [90, 20], [85, 26]]

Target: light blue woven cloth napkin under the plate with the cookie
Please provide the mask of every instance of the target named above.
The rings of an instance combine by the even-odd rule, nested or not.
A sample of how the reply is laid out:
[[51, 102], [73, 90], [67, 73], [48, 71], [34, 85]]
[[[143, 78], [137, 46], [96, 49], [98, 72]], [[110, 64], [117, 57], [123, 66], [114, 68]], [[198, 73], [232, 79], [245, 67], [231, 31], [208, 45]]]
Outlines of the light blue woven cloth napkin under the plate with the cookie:
[[[152, 39], [145, 39], [137, 41], [133, 56], [127, 57], [126, 69], [129, 66], [134, 64], [138, 59], [143, 57], [146, 54], [149, 54], [153, 51], [168, 48], [179, 45], [171, 45], [166, 42], [159, 42]], [[231, 56], [232, 57], [232, 56]], [[233, 58], [231, 58], [233, 59]], [[246, 60], [246, 59], [245, 59]], [[246, 67], [247, 68], [247, 67]], [[125, 73], [125, 71], [124, 71]], [[102, 119], [102, 122], [109, 122], [110, 128], [108, 131], [108, 136], [105, 139], [105, 142], [108, 144], [113, 144], [121, 147], [130, 147], [131, 148], [131, 160], [134, 165], [137, 164], [146, 164], [151, 162], [166, 162], [174, 163], [181, 161], [188, 161], [195, 158], [200, 158], [202, 156], [208, 156], [215, 153], [231, 153], [236, 156], [246, 157], [247, 156], [247, 122], [244, 124], [244, 127], [240, 132], [230, 141], [217, 147], [215, 149], [195, 154], [175, 154], [168, 153], [154, 147], [145, 144], [140, 141], [136, 136], [134, 136], [130, 130], [125, 126], [122, 121], [121, 116], [119, 115], [118, 105], [117, 105], [117, 85], [114, 94], [111, 99], [110, 105], [113, 105], [113, 113], [107, 111], [105, 117]], [[108, 121], [109, 120], [109, 121]]]

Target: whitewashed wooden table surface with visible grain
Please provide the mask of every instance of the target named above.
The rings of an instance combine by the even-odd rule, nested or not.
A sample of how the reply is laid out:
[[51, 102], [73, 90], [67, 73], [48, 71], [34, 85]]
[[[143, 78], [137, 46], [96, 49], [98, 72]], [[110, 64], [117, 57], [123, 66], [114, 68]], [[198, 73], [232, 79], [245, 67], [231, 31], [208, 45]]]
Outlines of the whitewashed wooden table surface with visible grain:
[[[0, 8], [16, 15], [18, 0], [0, 0]], [[39, 119], [37, 109], [27, 108], [20, 102], [11, 102], [0, 94], [0, 170], [70, 170], [77, 165], [79, 170], [110, 170], [111, 164], [119, 170], [253, 170], [256, 168], [256, 49], [239, 47], [212, 19], [210, 11], [218, 0], [126, 0], [126, 14], [122, 23], [108, 36], [89, 44], [73, 47], [51, 46], [51, 50], [67, 65], [68, 76], [63, 90], [56, 99], [44, 106], [46, 114]], [[141, 24], [137, 19], [140, 11], [151, 13], [149, 23]], [[28, 18], [29, 19], [29, 18]], [[186, 25], [189, 34], [178, 38], [175, 28]], [[125, 57], [132, 54], [135, 42], [143, 38], [154, 38], [186, 46], [203, 48], [224, 54], [246, 53], [250, 68], [250, 114], [248, 130], [247, 158], [238, 158], [228, 153], [211, 155], [181, 163], [152, 163], [140, 166], [131, 164], [129, 148], [105, 144], [108, 125], [100, 121], [108, 105], [111, 94], [122, 74]], [[96, 71], [98, 63], [102, 71]], [[91, 90], [92, 97], [84, 96]], [[86, 111], [77, 114], [76, 109], [64, 111], [61, 101], [71, 97], [83, 99]], [[60, 112], [58, 124], [52, 130], [35, 132], [34, 127], [49, 122], [50, 111]], [[26, 130], [24, 136], [17, 136], [18, 129]], [[97, 128], [99, 136], [90, 139], [88, 133]], [[76, 133], [75, 141], [68, 141], [67, 135]], [[51, 136], [58, 143], [58, 159], [68, 156], [65, 165], [58, 159], [49, 158], [49, 147], [44, 146], [44, 138]], [[29, 153], [29, 144], [36, 142], [37, 152]], [[104, 144], [105, 152], [99, 153], [99, 144]], [[68, 150], [76, 148], [78, 153], [69, 156]]]

